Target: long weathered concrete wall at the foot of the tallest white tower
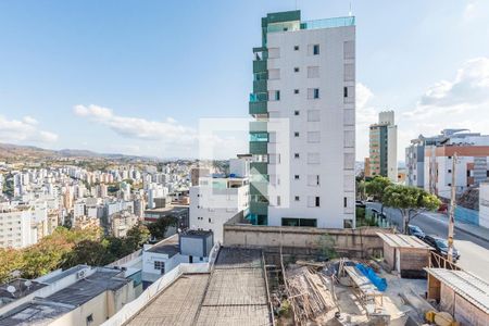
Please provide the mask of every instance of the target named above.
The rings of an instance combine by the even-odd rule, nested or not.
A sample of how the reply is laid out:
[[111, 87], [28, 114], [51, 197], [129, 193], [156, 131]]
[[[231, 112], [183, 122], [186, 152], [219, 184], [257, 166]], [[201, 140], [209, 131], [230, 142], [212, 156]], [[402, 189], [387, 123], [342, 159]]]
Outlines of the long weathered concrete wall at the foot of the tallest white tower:
[[362, 256], [383, 252], [384, 241], [377, 236], [378, 231], [390, 233], [390, 229], [224, 225], [224, 246], [265, 248], [275, 251], [281, 244], [284, 253], [315, 254], [319, 238], [327, 234], [334, 239], [338, 253]]

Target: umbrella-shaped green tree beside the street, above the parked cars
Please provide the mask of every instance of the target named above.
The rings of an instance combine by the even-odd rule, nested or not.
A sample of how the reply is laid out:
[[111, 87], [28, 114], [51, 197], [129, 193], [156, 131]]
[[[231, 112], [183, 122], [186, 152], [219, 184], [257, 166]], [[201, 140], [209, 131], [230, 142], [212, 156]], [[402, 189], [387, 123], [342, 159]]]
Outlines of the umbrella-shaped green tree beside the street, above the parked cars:
[[401, 185], [387, 187], [383, 202], [385, 205], [398, 209], [401, 212], [404, 234], [408, 234], [408, 225], [411, 220], [423, 212], [438, 209], [441, 203], [436, 196], [423, 189]]

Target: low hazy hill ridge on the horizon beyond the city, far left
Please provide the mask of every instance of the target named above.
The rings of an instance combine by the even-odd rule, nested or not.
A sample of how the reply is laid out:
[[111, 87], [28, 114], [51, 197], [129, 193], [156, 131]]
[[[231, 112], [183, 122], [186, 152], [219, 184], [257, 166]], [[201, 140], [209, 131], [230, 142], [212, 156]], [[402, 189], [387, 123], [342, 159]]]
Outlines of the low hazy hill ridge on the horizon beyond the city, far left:
[[0, 143], [0, 161], [4, 160], [22, 160], [22, 159], [57, 159], [57, 158], [87, 158], [87, 159], [108, 159], [108, 160], [141, 160], [156, 161], [155, 158], [125, 155], [125, 154], [103, 154], [89, 150], [62, 149], [49, 150], [34, 146], [21, 146], [12, 143]]

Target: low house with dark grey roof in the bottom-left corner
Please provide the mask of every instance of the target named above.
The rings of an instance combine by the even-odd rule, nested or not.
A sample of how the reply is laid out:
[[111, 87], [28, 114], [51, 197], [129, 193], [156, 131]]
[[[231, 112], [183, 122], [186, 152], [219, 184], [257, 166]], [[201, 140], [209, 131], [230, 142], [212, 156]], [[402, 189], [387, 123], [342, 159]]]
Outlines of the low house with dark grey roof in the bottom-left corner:
[[114, 268], [80, 265], [17, 283], [0, 290], [17, 296], [0, 309], [0, 325], [100, 325], [135, 299], [134, 281]]

